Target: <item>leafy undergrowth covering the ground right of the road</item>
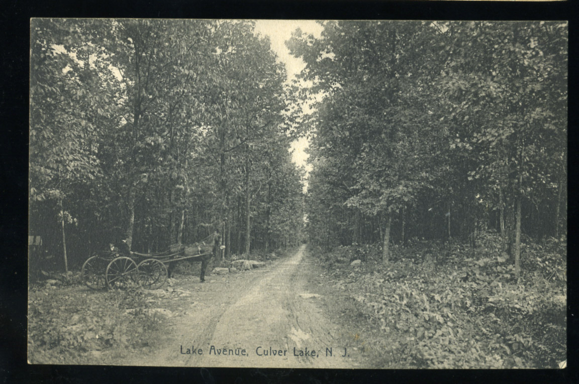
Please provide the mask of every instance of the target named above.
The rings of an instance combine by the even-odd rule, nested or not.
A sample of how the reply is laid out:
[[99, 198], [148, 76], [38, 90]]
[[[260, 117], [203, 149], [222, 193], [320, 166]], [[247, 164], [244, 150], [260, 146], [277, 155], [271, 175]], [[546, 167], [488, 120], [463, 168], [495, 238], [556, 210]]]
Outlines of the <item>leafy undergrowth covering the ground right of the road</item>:
[[[379, 329], [385, 368], [556, 368], [566, 359], [566, 244], [524, 243], [517, 283], [498, 243], [414, 243], [386, 266], [377, 246], [321, 260]], [[357, 267], [343, 262], [361, 254]]]

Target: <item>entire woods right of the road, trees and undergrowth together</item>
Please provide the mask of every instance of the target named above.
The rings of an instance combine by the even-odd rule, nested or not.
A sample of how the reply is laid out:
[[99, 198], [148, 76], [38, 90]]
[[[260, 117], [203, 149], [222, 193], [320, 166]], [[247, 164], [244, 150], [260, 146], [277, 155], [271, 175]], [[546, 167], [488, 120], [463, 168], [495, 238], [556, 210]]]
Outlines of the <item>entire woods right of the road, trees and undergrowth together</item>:
[[314, 111], [306, 231], [360, 348], [564, 368], [567, 23], [321, 24], [287, 43]]

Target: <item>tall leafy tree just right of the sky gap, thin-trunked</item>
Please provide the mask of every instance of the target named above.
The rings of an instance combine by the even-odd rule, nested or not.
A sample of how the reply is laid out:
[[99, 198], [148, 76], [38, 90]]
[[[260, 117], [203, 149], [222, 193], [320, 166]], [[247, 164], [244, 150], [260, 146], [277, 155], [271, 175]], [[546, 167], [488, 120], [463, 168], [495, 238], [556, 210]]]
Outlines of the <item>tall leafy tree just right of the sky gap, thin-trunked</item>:
[[321, 39], [298, 32], [288, 43], [306, 61], [302, 78], [325, 96], [314, 145], [350, 175], [346, 204], [384, 218], [384, 263], [394, 213], [428, 187], [437, 164], [437, 141], [423, 140], [438, 138], [437, 124], [419, 92], [433, 68], [416, 62], [416, 47], [428, 55], [434, 34], [424, 23], [327, 22]]

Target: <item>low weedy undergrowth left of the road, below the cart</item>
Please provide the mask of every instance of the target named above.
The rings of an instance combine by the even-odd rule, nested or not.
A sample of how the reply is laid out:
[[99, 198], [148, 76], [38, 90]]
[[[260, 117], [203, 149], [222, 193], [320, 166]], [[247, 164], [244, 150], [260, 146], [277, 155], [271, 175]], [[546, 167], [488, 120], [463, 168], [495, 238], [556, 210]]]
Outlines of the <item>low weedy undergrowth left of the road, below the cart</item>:
[[155, 343], [163, 321], [146, 309], [142, 290], [91, 291], [35, 286], [28, 292], [28, 361], [32, 364], [116, 364]]

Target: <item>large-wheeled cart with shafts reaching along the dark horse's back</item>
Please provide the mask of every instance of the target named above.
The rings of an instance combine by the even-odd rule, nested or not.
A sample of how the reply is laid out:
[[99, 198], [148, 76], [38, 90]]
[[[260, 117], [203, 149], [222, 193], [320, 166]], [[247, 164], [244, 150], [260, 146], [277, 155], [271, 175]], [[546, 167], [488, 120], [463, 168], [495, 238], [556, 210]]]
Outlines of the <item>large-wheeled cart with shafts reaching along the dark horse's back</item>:
[[173, 245], [162, 253], [131, 252], [123, 256], [115, 251], [96, 252], [82, 265], [81, 274], [91, 289], [142, 286], [159, 289], [167, 282], [167, 265], [177, 261], [207, 256], [212, 246], [204, 243]]

